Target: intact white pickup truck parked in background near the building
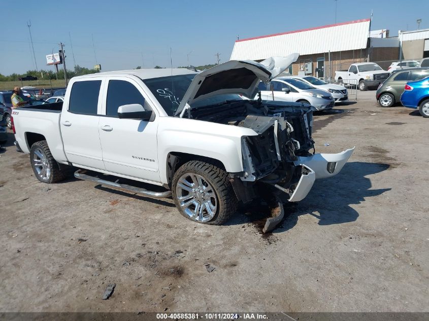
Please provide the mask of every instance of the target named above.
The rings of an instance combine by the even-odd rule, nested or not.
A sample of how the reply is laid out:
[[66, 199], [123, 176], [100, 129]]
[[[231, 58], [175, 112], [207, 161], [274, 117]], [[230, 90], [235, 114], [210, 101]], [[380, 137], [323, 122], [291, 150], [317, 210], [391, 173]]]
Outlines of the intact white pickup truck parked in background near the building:
[[335, 80], [338, 80], [340, 85], [357, 85], [361, 91], [370, 87], [378, 88], [389, 76], [389, 72], [374, 62], [353, 63], [348, 70], [335, 72]]

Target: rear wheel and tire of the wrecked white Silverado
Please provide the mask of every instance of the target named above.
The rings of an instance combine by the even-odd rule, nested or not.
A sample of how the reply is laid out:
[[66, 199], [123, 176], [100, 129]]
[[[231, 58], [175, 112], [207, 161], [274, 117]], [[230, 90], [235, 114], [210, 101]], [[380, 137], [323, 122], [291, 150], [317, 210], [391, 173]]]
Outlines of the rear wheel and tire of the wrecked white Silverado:
[[67, 177], [49, 150], [46, 140], [35, 142], [30, 149], [30, 163], [37, 179], [42, 183], [57, 183]]

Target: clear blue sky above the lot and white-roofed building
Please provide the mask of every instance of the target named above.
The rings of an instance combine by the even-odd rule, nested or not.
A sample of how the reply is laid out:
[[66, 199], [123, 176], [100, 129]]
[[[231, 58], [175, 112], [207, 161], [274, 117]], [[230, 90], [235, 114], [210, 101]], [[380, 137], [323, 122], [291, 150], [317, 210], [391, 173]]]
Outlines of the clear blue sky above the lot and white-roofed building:
[[[338, 0], [337, 23], [370, 18], [371, 29], [429, 28], [429, 1]], [[74, 63], [103, 71], [203, 65], [229, 60], [234, 42], [259, 35], [335, 23], [335, 0], [297, 1], [19, 1], [2, 5], [0, 74], [35, 69], [27, 21], [39, 69], [47, 54], [65, 44], [67, 67]], [[70, 35], [71, 37], [70, 37]], [[92, 42], [94, 39], [94, 46]], [[73, 53], [72, 46], [73, 45]]]

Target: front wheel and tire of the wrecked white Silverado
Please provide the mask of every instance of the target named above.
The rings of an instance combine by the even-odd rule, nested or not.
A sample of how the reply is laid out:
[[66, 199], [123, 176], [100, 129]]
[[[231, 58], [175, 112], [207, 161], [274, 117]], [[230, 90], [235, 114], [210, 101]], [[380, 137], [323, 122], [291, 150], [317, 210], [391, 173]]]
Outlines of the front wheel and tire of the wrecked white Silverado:
[[185, 218], [204, 224], [222, 225], [237, 210], [238, 200], [227, 173], [219, 167], [189, 161], [174, 173], [172, 193]]

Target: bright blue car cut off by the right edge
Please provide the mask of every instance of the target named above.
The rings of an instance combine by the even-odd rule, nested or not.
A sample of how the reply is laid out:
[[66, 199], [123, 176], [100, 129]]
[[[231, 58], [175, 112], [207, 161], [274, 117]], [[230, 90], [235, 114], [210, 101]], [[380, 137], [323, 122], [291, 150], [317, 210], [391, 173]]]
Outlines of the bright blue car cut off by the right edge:
[[418, 109], [421, 116], [429, 118], [429, 77], [408, 82], [401, 95], [401, 103], [408, 108]]

